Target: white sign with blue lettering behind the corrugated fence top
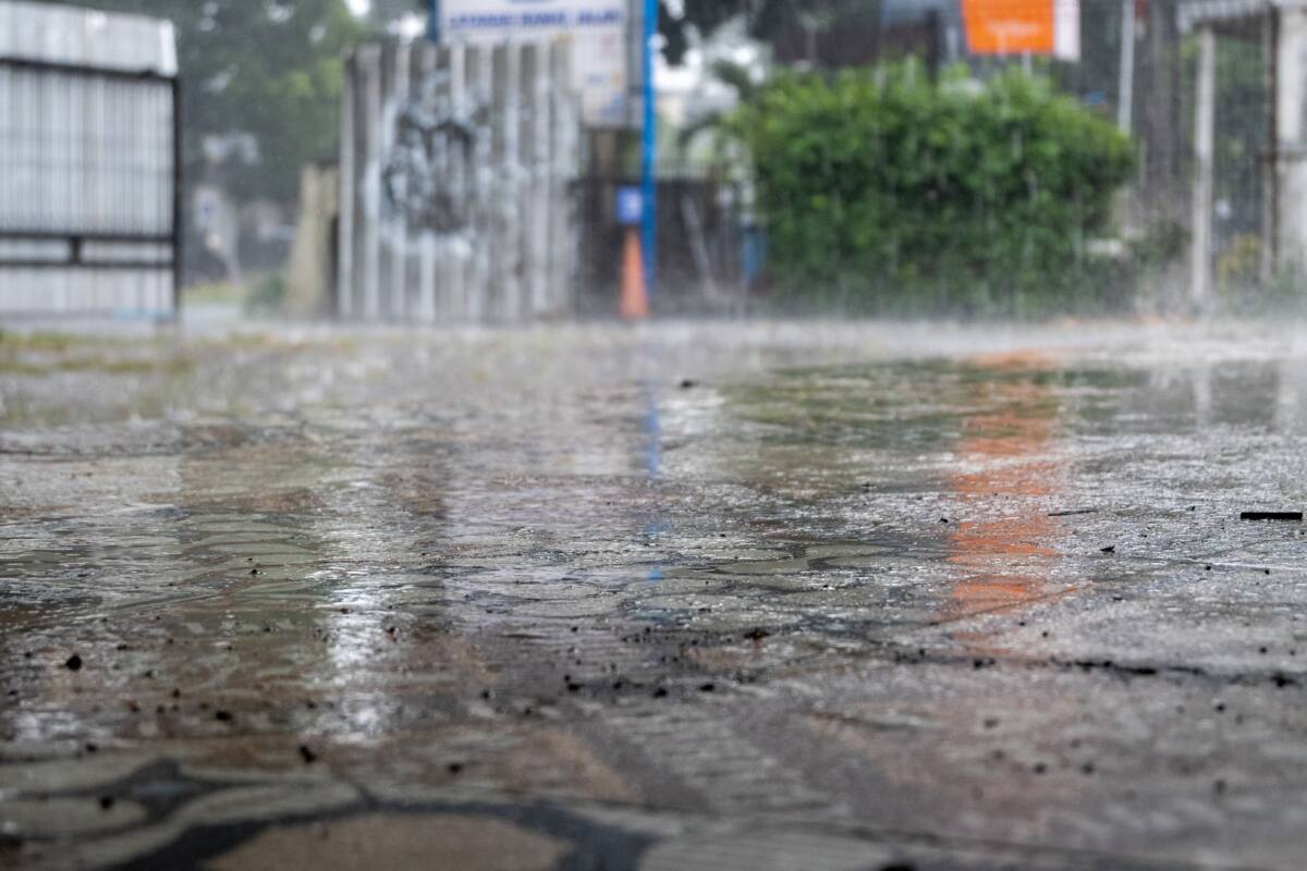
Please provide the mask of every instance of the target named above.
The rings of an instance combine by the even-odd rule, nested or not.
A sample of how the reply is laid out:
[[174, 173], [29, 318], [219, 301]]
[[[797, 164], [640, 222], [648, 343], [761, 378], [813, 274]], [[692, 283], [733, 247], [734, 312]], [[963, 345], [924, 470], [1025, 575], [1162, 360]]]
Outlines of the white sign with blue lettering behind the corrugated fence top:
[[571, 39], [586, 123], [627, 124], [626, 0], [435, 0], [435, 21], [444, 43]]

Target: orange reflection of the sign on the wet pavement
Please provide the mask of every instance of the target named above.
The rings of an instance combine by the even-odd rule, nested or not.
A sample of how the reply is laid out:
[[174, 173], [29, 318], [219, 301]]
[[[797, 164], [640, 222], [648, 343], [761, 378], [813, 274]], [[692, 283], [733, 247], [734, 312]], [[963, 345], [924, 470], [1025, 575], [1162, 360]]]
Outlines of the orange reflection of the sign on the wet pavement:
[[[949, 537], [949, 562], [965, 571], [946, 605], [950, 619], [1012, 611], [1068, 592], [1050, 577], [1064, 530], [1042, 499], [1057, 492], [1063, 473], [1056, 456], [1057, 405], [1040, 377], [1052, 360], [1018, 353], [975, 358], [970, 364], [989, 376], [978, 380], [987, 410], [963, 423], [958, 471], [949, 483], [983, 518], [963, 518]], [[984, 635], [955, 637], [979, 652], [996, 652]]]

